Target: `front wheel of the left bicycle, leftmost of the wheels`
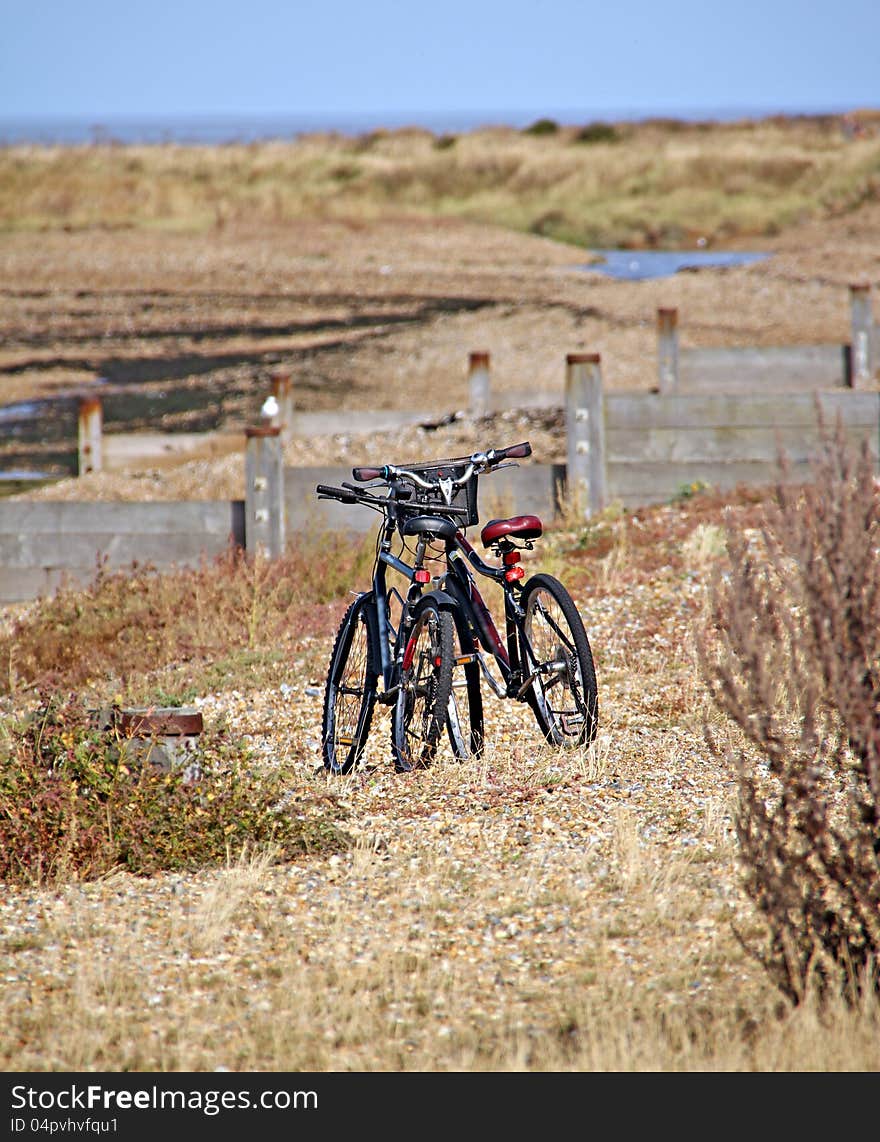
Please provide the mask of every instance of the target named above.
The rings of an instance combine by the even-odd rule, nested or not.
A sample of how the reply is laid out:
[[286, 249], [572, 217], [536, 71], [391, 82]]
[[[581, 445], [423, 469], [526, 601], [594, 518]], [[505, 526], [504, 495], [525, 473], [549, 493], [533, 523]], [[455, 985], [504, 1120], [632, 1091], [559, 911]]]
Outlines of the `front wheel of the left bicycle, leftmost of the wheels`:
[[358, 595], [339, 624], [324, 684], [324, 769], [342, 774], [361, 761], [376, 707], [379, 636], [371, 593]]

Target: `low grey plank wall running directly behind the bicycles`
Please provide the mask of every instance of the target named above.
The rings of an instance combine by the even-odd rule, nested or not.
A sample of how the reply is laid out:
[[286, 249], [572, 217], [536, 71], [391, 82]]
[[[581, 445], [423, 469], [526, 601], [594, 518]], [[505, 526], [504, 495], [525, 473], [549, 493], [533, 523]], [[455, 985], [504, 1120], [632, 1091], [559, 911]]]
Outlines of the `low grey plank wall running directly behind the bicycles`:
[[[603, 432], [597, 439], [603, 445], [598, 459], [604, 466], [605, 501], [636, 508], [665, 502], [695, 482], [720, 490], [770, 483], [778, 477], [780, 449], [793, 464], [793, 477], [808, 478], [809, 459], [818, 445], [817, 401], [829, 426], [839, 416], [847, 439], [867, 441], [878, 458], [878, 392], [604, 394]], [[551, 520], [565, 473], [564, 465], [526, 464], [482, 477], [481, 523], [511, 513]], [[339, 485], [350, 478], [349, 467], [284, 468], [285, 542], [296, 542], [297, 534], [308, 530], [372, 530], [379, 520], [376, 513], [317, 498], [317, 484]], [[596, 509], [591, 504], [590, 510]], [[245, 539], [245, 504], [239, 500], [0, 500], [0, 604], [51, 593], [65, 579], [86, 582], [105, 556], [111, 569], [124, 569], [134, 561], [158, 568], [197, 565], [202, 557], [225, 550], [231, 540], [248, 546]]]

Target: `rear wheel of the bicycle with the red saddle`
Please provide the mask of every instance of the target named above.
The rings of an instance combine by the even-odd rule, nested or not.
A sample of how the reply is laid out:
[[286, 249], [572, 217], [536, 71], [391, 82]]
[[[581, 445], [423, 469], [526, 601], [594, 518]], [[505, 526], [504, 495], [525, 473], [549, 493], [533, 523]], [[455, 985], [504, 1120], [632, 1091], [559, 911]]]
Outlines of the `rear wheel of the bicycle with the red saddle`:
[[589, 746], [599, 723], [598, 685], [574, 600], [558, 579], [540, 573], [524, 585], [520, 605], [519, 652], [532, 677], [525, 698], [538, 725], [554, 746]]

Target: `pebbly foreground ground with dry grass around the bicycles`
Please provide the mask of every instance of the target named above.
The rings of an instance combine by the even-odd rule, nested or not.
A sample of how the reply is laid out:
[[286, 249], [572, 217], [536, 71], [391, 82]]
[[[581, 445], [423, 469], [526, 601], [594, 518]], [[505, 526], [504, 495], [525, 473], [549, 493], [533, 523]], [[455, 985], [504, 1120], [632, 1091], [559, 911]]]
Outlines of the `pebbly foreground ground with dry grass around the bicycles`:
[[[737, 526], [756, 499], [734, 498]], [[691, 634], [725, 504], [548, 534], [599, 673], [602, 732], [583, 754], [490, 699], [479, 763], [394, 774], [380, 711], [366, 767], [330, 781], [316, 738], [332, 621], [290, 632], [294, 669], [217, 679], [197, 697], [208, 723], [250, 743], [243, 764], [283, 763], [292, 805], [338, 796], [352, 847], [8, 888], [3, 1068], [874, 1069], [875, 1010], [793, 1012], [733, 934], [759, 922]]]

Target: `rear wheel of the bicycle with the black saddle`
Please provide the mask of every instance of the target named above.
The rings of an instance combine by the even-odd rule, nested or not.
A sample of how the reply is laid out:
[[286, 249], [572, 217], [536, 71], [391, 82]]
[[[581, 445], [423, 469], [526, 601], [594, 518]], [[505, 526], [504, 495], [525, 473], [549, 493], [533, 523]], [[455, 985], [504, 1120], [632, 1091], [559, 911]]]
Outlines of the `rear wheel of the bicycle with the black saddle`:
[[426, 595], [417, 605], [391, 717], [394, 766], [398, 773], [434, 761], [446, 724], [454, 658], [452, 616]]

